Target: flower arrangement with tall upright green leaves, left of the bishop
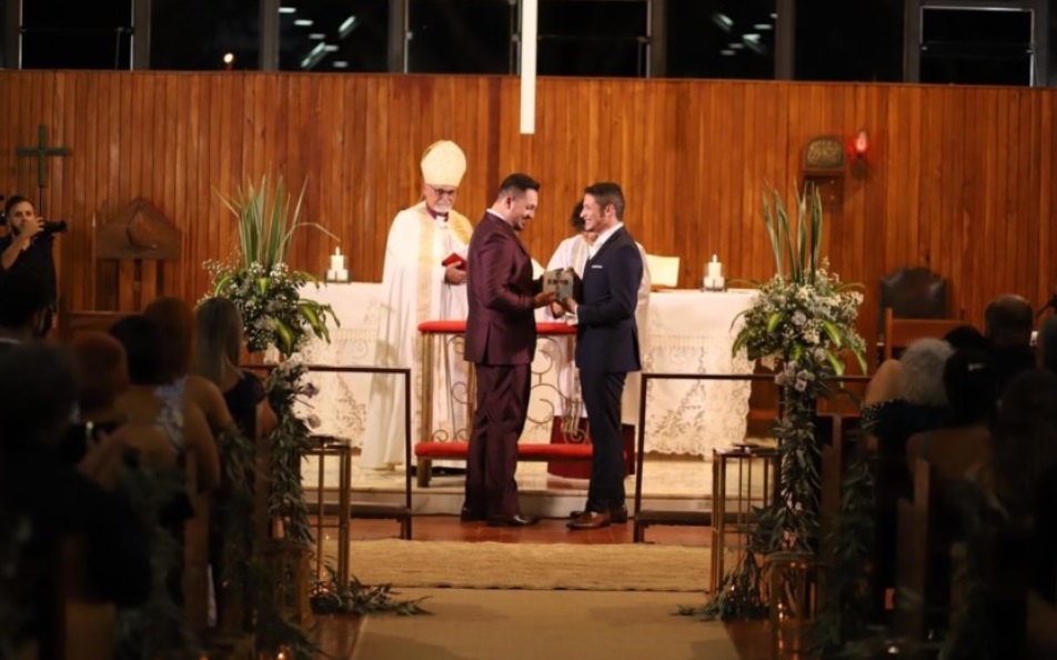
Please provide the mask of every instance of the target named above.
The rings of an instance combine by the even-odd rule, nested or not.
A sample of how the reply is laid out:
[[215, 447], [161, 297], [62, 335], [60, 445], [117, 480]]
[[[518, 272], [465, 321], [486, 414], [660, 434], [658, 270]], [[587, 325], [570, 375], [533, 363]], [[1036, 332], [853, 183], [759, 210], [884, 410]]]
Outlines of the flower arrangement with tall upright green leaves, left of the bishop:
[[314, 227], [328, 236], [315, 222], [301, 222], [304, 188], [291, 207], [282, 179], [274, 190], [268, 178], [259, 186], [246, 183], [234, 197], [221, 196], [224, 204], [239, 220], [240, 257], [233, 262], [207, 261], [211, 276], [212, 296], [228, 298], [242, 313], [246, 343], [258, 352], [275, 346], [283, 357], [296, 352], [311, 332], [330, 341], [326, 319], [335, 326], [340, 321], [329, 304], [301, 298], [300, 289], [319, 280], [303, 271], [290, 270], [286, 252], [294, 231]]

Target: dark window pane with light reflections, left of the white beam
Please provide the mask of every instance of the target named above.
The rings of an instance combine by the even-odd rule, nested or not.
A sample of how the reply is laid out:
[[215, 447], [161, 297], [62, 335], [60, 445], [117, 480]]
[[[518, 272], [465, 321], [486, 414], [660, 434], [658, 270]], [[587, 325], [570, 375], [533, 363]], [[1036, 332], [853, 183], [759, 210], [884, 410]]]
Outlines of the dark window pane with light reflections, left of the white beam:
[[387, 0], [283, 0], [282, 6], [281, 70], [386, 70]]

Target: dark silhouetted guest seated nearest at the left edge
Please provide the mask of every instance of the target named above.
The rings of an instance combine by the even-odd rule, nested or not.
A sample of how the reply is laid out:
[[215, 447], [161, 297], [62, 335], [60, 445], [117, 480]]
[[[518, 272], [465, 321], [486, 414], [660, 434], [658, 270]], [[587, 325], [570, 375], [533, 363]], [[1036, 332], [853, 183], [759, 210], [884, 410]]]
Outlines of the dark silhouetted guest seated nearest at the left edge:
[[[41, 657], [58, 626], [50, 597], [58, 590], [56, 554], [63, 540], [83, 539], [89, 589], [101, 600], [138, 606], [151, 583], [145, 539], [128, 498], [114, 490], [125, 451], [122, 438], [103, 436], [90, 443], [77, 466], [58, 456], [76, 399], [66, 351], [26, 344], [0, 356], [0, 509], [4, 519], [24, 519], [31, 530], [14, 558], [22, 617], [14, 646], [36, 638]], [[9, 596], [3, 589], [3, 598]]]

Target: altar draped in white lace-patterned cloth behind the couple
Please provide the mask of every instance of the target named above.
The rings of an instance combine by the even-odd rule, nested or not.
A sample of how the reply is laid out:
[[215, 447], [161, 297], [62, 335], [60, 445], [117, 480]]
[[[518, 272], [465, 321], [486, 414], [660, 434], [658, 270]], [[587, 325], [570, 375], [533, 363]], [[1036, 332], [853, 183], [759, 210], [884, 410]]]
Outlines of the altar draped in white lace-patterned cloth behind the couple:
[[[331, 343], [313, 339], [296, 357], [311, 364], [373, 366], [381, 291], [381, 284], [366, 282], [302, 289], [304, 298], [333, 307], [341, 326], [330, 327]], [[643, 338], [644, 370], [751, 373], [752, 363], [744, 357], [733, 358], [731, 346], [737, 332], [737, 326], [733, 326], [737, 313], [749, 306], [754, 294], [753, 290], [652, 293]], [[541, 388], [541, 392], [553, 394], [553, 388], [557, 388], [568, 394], [568, 383], [557, 374], [562, 363], [571, 358], [572, 341], [570, 338], [541, 342], [533, 372], [541, 382], [553, 384]], [[299, 413], [319, 418], [315, 432], [348, 438], [354, 447], [361, 447], [366, 433], [371, 376], [313, 372], [309, 378], [319, 388], [319, 394], [301, 403]], [[741, 441], [749, 389], [747, 380], [651, 381], [646, 392], [646, 450], [711, 457], [714, 448]], [[522, 442], [550, 442], [554, 412], [553, 397], [534, 394]]]

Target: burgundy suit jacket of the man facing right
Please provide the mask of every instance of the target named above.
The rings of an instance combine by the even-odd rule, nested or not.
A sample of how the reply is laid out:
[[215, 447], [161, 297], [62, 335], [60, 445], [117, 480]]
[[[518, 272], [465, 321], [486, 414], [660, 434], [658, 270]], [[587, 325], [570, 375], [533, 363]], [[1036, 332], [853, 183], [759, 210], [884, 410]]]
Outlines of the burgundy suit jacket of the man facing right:
[[532, 259], [514, 228], [485, 213], [466, 258], [465, 357], [476, 364], [530, 364], [536, 352]]

